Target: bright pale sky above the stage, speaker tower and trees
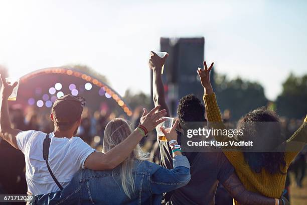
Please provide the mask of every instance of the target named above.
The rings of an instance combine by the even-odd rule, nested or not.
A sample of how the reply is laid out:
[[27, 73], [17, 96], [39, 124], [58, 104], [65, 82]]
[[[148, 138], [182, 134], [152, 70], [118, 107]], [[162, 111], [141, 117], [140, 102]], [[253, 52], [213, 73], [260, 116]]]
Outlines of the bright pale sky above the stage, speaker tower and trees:
[[160, 37], [204, 36], [217, 72], [259, 81], [274, 99], [289, 72], [307, 73], [306, 11], [303, 0], [0, 1], [0, 64], [12, 76], [85, 64], [122, 95], [149, 93]]

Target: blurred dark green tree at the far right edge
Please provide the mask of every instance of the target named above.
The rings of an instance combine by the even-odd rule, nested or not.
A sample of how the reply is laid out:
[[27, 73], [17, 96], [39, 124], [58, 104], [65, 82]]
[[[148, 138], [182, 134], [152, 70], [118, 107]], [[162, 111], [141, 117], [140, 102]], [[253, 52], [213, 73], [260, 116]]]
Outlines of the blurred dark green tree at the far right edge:
[[282, 83], [282, 92], [276, 99], [281, 116], [300, 119], [307, 113], [307, 74], [298, 77], [289, 74]]

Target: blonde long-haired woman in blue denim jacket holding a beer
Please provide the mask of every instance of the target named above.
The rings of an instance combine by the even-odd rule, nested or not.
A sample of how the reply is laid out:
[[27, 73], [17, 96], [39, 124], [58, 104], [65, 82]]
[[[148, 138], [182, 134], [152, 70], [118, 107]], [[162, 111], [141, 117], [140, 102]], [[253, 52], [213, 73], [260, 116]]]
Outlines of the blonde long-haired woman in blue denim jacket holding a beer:
[[[173, 150], [174, 169], [146, 161], [146, 153], [137, 145], [115, 169], [78, 172], [63, 191], [36, 196], [34, 204], [161, 204], [162, 193], [190, 181], [190, 164], [181, 154], [175, 130], [162, 129]], [[103, 152], [109, 152], [132, 132], [120, 118], [110, 121], [104, 131]]]

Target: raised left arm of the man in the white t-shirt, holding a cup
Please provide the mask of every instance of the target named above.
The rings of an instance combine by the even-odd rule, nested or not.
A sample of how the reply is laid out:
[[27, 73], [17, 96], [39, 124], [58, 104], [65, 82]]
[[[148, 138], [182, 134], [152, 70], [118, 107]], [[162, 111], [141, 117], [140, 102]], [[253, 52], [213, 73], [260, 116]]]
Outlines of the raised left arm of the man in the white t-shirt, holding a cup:
[[18, 133], [21, 132], [21, 130], [13, 129], [10, 115], [9, 115], [9, 106], [8, 106], [8, 98], [12, 94], [14, 87], [17, 86], [18, 82], [15, 82], [14, 84], [8, 84], [6, 82], [6, 79], [1, 75], [1, 91], [0, 91], [0, 135], [1, 137], [6, 140], [8, 143], [10, 143], [13, 147], [16, 149], [18, 148], [16, 136]]

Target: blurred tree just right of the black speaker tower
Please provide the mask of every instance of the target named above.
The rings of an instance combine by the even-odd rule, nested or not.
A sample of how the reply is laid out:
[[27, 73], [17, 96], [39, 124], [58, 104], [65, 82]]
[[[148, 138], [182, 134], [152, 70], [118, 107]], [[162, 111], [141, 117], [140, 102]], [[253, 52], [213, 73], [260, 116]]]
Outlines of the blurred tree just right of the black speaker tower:
[[221, 111], [229, 109], [232, 120], [238, 120], [251, 110], [266, 106], [268, 100], [263, 87], [257, 82], [215, 73], [215, 90]]

